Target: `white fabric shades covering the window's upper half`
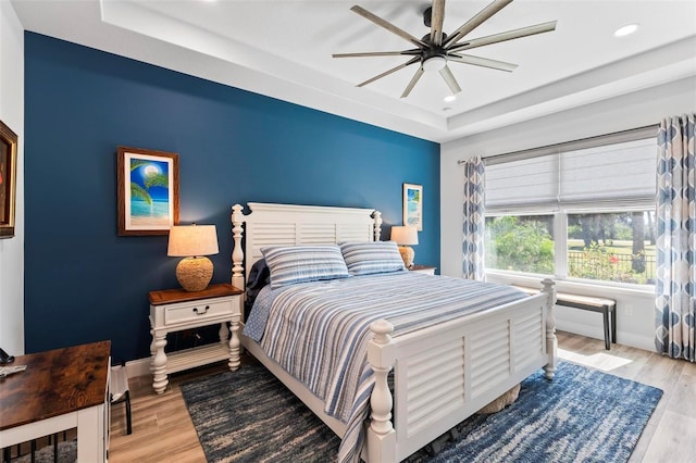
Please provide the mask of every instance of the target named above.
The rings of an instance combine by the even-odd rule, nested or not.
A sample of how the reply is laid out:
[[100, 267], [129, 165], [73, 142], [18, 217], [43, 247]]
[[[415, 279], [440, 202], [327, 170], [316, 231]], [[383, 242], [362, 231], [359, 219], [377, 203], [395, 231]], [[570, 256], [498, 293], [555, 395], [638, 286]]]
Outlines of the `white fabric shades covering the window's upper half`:
[[655, 137], [512, 159], [486, 166], [486, 213], [651, 207]]

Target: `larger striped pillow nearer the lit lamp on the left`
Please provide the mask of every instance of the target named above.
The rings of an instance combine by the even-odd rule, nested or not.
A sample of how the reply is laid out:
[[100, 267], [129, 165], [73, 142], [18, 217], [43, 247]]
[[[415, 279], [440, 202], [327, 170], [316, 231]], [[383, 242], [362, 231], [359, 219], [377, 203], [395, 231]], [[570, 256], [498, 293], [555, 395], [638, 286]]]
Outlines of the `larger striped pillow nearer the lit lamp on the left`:
[[261, 249], [271, 271], [271, 288], [350, 276], [336, 245], [273, 246]]

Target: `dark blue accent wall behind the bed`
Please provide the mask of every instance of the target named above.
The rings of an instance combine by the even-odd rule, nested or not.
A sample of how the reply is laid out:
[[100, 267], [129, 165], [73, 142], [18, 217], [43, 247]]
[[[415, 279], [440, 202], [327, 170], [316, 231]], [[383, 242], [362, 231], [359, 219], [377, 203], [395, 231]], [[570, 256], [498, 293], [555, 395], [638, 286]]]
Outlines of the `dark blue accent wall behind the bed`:
[[25, 93], [27, 353], [150, 353], [148, 291], [178, 287], [179, 259], [166, 236], [117, 235], [117, 146], [179, 154], [179, 222], [217, 227], [213, 283], [234, 203], [374, 208], [388, 239], [403, 183], [423, 185], [415, 260], [439, 265], [438, 143], [28, 32]]

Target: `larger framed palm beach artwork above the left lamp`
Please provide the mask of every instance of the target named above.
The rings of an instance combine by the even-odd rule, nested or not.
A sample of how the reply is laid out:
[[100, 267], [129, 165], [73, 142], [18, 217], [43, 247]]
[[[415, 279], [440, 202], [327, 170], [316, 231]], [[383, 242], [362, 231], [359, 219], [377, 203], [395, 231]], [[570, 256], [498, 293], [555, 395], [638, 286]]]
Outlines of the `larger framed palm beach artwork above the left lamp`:
[[166, 235], [178, 224], [178, 154], [119, 147], [119, 235]]

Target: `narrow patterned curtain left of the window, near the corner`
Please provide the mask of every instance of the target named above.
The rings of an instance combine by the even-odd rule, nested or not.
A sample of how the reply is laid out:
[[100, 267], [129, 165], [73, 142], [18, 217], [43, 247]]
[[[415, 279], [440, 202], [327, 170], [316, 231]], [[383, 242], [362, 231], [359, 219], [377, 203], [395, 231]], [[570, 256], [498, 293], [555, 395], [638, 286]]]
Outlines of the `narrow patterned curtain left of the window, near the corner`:
[[481, 158], [464, 161], [464, 241], [462, 243], [463, 277], [484, 279], [484, 204], [483, 176], [484, 165]]

